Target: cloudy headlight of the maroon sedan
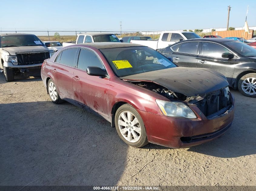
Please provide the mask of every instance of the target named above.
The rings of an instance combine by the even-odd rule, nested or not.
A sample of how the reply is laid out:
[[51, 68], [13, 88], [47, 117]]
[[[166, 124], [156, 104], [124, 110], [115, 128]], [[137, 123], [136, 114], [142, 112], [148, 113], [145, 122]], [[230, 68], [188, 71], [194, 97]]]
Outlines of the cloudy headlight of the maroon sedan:
[[169, 102], [162, 100], [155, 100], [161, 111], [166, 116], [171, 117], [185, 117], [188, 119], [197, 118], [195, 113], [191, 110], [190, 107], [186, 106], [181, 102]]

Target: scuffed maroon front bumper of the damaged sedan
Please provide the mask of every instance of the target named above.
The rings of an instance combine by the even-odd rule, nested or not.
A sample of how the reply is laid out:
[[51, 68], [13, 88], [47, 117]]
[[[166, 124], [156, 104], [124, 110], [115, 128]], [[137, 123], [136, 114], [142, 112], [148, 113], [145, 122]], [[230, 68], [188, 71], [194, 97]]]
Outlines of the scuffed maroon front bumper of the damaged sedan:
[[191, 107], [199, 114], [197, 119], [159, 116], [138, 111], [145, 123], [148, 141], [170, 148], [186, 148], [209, 142], [226, 132], [234, 119], [234, 98], [224, 113], [211, 119], [206, 118], [198, 107]]

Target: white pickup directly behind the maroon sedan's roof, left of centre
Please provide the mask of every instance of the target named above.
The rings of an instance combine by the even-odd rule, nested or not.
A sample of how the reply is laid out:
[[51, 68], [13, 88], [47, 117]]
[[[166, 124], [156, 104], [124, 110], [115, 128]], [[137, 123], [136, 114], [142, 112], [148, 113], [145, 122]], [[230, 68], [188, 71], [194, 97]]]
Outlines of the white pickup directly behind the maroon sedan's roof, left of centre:
[[[99, 42], [117, 42], [121, 41], [112, 33], [82, 33], [78, 34], [75, 44], [99, 43]], [[73, 45], [74, 43], [62, 43], [62, 46]]]

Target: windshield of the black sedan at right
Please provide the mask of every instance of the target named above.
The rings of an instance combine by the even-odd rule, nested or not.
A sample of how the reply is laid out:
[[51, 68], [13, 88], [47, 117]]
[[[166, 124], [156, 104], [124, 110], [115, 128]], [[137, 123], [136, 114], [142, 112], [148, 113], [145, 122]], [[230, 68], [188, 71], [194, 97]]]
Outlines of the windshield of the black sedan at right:
[[224, 42], [224, 44], [231, 47], [232, 49], [234, 49], [236, 52], [238, 52], [243, 56], [256, 56], [255, 48], [245, 43], [242, 43], [240, 41], [228, 41], [228, 42]]

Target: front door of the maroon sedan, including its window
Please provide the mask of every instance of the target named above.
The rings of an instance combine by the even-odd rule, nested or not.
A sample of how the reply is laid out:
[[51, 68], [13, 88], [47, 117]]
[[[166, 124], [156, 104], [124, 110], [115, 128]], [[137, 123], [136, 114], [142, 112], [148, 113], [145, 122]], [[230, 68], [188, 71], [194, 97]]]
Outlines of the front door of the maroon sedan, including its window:
[[[80, 67], [82, 64], [83, 66]], [[81, 48], [78, 68], [74, 69], [73, 74], [75, 77], [73, 78], [73, 92], [76, 104], [85, 109], [93, 110], [108, 119], [109, 78], [88, 75], [86, 72], [88, 66], [104, 68], [96, 53]]]

